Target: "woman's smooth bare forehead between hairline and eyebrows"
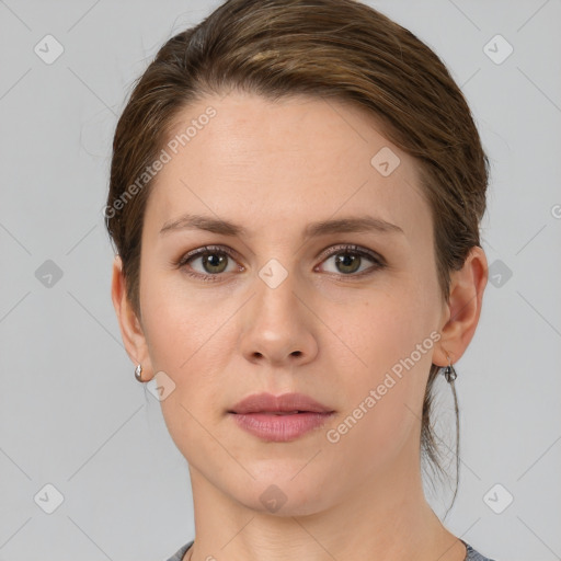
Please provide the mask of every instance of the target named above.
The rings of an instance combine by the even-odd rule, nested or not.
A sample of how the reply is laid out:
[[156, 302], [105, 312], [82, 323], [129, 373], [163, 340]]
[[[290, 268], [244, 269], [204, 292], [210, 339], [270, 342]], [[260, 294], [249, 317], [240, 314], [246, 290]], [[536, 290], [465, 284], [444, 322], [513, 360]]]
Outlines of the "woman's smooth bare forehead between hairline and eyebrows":
[[163, 148], [151, 228], [186, 211], [236, 218], [249, 234], [337, 214], [371, 214], [409, 236], [430, 227], [417, 162], [347, 103], [209, 96], [182, 111]]

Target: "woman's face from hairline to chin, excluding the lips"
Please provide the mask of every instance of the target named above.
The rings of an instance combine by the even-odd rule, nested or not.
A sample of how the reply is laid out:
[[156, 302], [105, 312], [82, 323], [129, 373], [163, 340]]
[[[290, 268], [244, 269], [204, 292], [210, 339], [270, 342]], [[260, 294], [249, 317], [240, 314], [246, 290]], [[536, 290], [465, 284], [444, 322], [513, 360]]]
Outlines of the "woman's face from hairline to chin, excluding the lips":
[[[175, 385], [161, 401], [174, 443], [257, 511], [266, 490], [304, 514], [404, 477], [444, 316], [416, 162], [334, 101], [207, 98], [174, 134], [192, 119], [141, 241], [144, 366]], [[261, 392], [333, 413], [271, 440], [229, 413]]]

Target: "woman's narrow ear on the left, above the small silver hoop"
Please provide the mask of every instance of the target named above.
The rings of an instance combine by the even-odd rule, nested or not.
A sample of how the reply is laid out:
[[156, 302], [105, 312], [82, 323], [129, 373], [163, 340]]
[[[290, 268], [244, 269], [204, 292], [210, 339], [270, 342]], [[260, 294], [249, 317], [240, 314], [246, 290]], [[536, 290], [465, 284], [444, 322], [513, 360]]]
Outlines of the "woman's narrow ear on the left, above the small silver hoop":
[[111, 298], [115, 313], [117, 314], [125, 350], [135, 366], [137, 364], [142, 365], [142, 380], [148, 381], [151, 379], [151, 376], [153, 376], [152, 365], [148, 355], [148, 345], [146, 343], [142, 325], [127, 297], [126, 283], [123, 275], [123, 262], [119, 255], [115, 255], [115, 260], [113, 261]]

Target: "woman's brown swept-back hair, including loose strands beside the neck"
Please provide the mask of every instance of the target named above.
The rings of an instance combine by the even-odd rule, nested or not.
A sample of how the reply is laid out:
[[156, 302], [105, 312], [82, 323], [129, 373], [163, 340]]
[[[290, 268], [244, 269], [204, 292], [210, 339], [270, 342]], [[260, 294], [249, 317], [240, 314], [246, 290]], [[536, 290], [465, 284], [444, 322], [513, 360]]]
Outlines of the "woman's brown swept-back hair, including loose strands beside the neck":
[[[106, 228], [123, 261], [127, 298], [139, 318], [140, 241], [153, 179], [127, 187], [158, 158], [191, 103], [237, 90], [278, 100], [297, 94], [350, 102], [416, 159], [431, 208], [442, 297], [450, 273], [480, 247], [489, 160], [470, 108], [438, 56], [409, 30], [355, 0], [228, 0], [171, 37], [137, 79], [118, 119]], [[431, 421], [431, 366], [423, 401], [422, 455], [440, 473]], [[456, 412], [456, 497], [459, 415]], [[453, 499], [453, 503], [454, 503]]]

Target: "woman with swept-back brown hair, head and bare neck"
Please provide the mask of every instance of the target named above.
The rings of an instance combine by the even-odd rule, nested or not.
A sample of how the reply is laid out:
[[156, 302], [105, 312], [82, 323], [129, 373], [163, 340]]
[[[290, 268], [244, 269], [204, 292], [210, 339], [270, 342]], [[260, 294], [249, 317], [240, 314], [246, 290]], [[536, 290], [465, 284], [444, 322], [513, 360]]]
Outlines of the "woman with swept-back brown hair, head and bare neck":
[[118, 122], [112, 298], [188, 462], [172, 560], [484, 560], [422, 488], [486, 283], [489, 163], [438, 57], [353, 0], [229, 0]]

